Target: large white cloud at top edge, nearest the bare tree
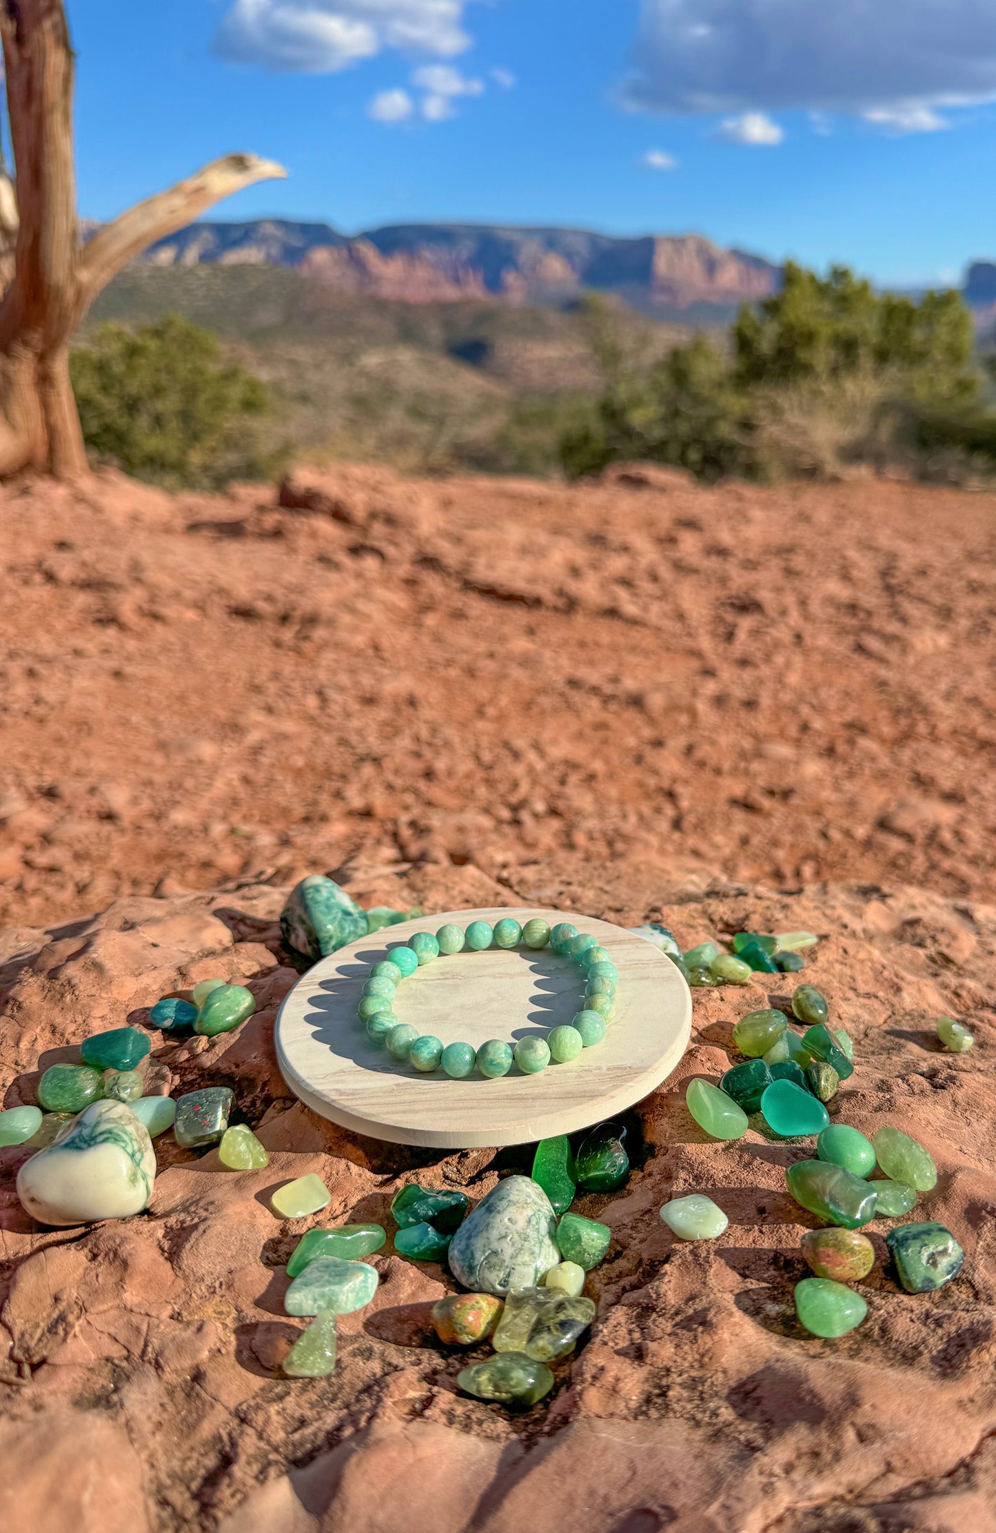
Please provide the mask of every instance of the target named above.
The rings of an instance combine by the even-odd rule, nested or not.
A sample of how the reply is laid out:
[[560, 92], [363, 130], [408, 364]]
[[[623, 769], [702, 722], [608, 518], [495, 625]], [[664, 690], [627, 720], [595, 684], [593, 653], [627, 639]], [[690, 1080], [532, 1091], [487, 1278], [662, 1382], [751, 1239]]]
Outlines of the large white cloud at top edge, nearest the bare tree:
[[385, 48], [452, 57], [466, 0], [233, 0], [215, 51], [233, 63], [336, 74]]

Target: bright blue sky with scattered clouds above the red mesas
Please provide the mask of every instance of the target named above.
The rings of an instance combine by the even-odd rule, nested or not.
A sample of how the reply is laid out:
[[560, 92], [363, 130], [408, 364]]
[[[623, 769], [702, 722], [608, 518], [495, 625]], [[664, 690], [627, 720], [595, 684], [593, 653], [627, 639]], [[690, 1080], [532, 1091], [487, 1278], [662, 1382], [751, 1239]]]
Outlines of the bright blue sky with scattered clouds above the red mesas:
[[244, 149], [290, 178], [221, 218], [697, 231], [895, 284], [996, 259], [994, 0], [67, 11], [84, 216]]

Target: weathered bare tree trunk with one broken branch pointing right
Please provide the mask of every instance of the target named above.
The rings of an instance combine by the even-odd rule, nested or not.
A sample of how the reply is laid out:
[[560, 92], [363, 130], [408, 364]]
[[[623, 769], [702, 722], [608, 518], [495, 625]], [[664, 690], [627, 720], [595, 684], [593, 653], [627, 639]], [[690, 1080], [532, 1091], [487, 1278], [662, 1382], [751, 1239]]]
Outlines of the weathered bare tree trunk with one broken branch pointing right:
[[69, 340], [100, 290], [146, 245], [219, 198], [287, 172], [256, 155], [228, 155], [139, 202], [81, 247], [63, 0], [0, 0], [0, 37], [17, 167], [15, 204], [9, 182], [0, 187], [0, 276], [9, 276], [0, 302], [0, 475], [29, 468], [64, 478], [86, 472]]

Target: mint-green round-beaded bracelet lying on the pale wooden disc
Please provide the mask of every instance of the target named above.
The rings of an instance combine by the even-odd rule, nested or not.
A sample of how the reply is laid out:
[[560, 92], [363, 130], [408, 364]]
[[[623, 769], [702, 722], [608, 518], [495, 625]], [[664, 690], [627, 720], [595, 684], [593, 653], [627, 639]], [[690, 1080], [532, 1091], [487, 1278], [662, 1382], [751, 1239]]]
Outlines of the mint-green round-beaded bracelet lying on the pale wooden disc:
[[[408, 975], [432, 963], [440, 954], [458, 954], [464, 947], [484, 952], [492, 946], [515, 947], [518, 941], [533, 952], [550, 944], [552, 952], [573, 958], [584, 970], [584, 1010], [578, 1012], [568, 1026], [552, 1029], [547, 1039], [519, 1038], [515, 1049], [500, 1038], [490, 1038], [480, 1049], [472, 1044], [443, 1044], [438, 1038], [421, 1035], [409, 1023], [398, 1023], [394, 1015], [394, 995]], [[570, 921], [561, 921], [550, 931], [546, 921], [533, 918], [519, 926], [503, 917], [492, 927], [487, 921], [470, 921], [466, 932], [460, 926], [440, 926], [432, 932], [415, 932], [409, 941], [388, 949], [389, 957], [375, 963], [363, 986], [359, 1016], [366, 1035], [375, 1044], [386, 1044], [395, 1059], [409, 1059], [417, 1070], [431, 1075], [440, 1065], [454, 1081], [463, 1081], [477, 1069], [489, 1079], [507, 1075], [515, 1062], [524, 1075], [538, 1075], [550, 1059], [567, 1064], [576, 1059], [582, 1049], [601, 1044], [605, 1023], [616, 1009], [616, 986], [619, 970], [596, 937], [582, 935]]]

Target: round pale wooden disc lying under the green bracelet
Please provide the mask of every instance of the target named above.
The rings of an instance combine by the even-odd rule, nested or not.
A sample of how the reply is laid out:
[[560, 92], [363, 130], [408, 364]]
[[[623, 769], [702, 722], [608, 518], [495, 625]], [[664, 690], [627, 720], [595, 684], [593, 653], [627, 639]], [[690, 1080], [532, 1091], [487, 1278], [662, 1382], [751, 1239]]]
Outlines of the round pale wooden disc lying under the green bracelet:
[[[619, 970], [616, 1015], [605, 1038], [570, 1064], [539, 1075], [512, 1073], [489, 1081], [477, 1070], [450, 1081], [437, 1070], [420, 1075], [374, 1046], [357, 1018], [371, 964], [415, 932], [437, 932], [447, 921], [503, 915], [550, 926], [573, 921], [608, 949]], [[401, 1023], [443, 1044], [489, 1038], [515, 1042], [544, 1038], [581, 1010], [582, 970], [549, 947], [461, 952], [435, 958], [398, 986], [394, 1010]], [[280, 1072], [290, 1088], [323, 1118], [394, 1144], [467, 1150], [516, 1145], [587, 1128], [639, 1102], [660, 1085], [685, 1053], [691, 1032], [691, 992], [662, 952], [608, 921], [562, 911], [450, 911], [420, 917], [340, 947], [308, 969], [287, 995], [276, 1021]]]

